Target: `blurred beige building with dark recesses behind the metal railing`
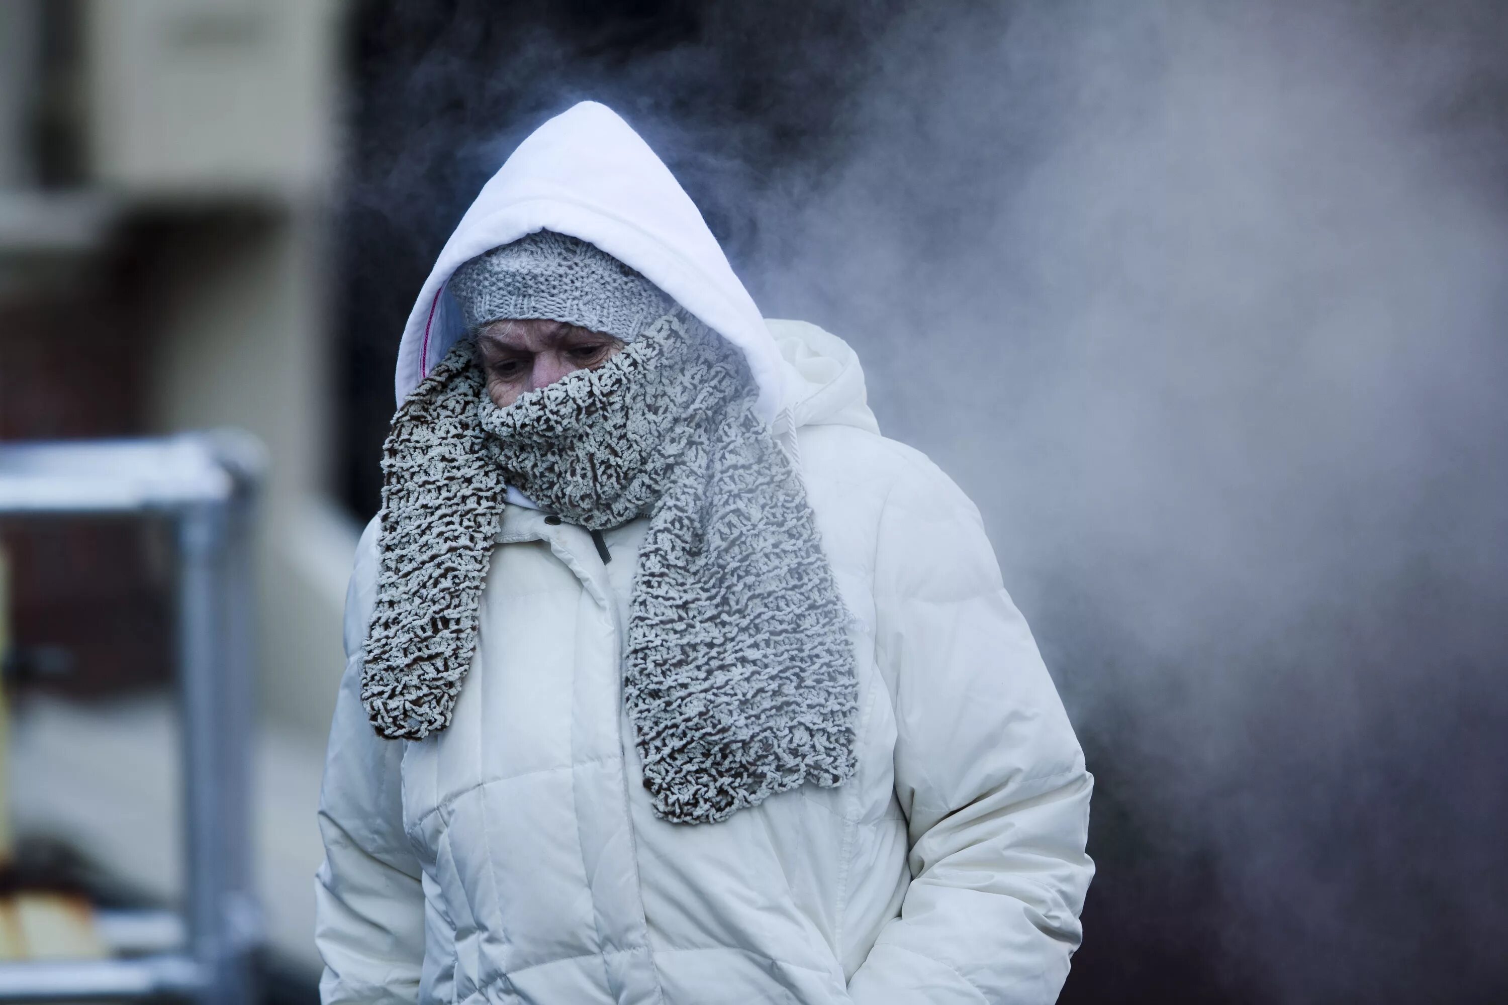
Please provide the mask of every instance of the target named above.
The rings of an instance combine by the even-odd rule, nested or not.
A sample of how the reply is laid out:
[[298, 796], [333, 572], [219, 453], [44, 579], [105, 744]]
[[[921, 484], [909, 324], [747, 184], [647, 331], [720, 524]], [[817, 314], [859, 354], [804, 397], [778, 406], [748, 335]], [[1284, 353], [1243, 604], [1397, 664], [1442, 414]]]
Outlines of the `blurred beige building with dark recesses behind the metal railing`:
[[[256, 847], [271, 949], [305, 984], [359, 533], [330, 475], [341, 30], [324, 0], [0, 3], [0, 437], [240, 426], [267, 444]], [[172, 898], [161, 541], [125, 523], [5, 541], [15, 829]]]

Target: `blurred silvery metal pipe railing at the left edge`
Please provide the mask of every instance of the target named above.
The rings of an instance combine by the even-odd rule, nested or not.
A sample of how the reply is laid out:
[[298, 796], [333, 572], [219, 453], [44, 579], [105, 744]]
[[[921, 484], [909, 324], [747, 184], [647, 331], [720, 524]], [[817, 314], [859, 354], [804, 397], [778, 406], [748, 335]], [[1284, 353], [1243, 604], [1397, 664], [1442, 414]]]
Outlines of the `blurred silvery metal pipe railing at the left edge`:
[[247, 434], [0, 444], [0, 517], [175, 524], [187, 943], [113, 960], [0, 964], [0, 1002], [182, 996], [253, 1000], [261, 913], [250, 856], [250, 514], [264, 467]]

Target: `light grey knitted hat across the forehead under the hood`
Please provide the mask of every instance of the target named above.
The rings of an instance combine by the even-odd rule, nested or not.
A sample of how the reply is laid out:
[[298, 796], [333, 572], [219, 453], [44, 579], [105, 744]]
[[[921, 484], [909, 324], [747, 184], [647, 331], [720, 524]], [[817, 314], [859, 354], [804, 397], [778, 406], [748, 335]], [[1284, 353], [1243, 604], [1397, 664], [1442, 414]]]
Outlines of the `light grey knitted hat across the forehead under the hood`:
[[581, 238], [535, 231], [455, 270], [451, 295], [469, 331], [546, 318], [632, 342], [674, 309], [659, 286]]

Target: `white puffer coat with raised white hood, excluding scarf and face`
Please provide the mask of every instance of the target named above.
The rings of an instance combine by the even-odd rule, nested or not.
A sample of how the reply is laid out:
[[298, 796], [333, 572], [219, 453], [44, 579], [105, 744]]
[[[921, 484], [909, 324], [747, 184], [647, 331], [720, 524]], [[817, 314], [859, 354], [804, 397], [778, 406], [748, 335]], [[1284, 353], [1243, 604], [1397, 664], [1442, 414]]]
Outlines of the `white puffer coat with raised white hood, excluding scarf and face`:
[[379, 738], [360, 702], [375, 521], [351, 576], [317, 940], [326, 1002], [1051, 1002], [1093, 866], [1092, 779], [979, 512], [879, 435], [858, 359], [765, 322], [695, 206], [582, 104], [483, 190], [421, 294], [400, 401], [460, 334], [463, 261], [549, 228], [737, 344], [854, 616], [857, 777], [718, 824], [654, 817], [620, 701], [645, 521], [591, 536], [508, 506], [451, 726]]

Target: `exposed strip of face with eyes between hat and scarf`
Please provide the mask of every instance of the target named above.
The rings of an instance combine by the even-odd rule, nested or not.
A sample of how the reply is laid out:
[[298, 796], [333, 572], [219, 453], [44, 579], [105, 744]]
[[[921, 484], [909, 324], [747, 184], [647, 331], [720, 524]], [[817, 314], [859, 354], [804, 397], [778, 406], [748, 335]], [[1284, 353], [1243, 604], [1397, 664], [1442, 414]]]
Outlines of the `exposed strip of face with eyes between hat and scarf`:
[[567, 374], [597, 369], [621, 348], [623, 342], [611, 334], [564, 321], [508, 318], [477, 333], [477, 363], [487, 377], [487, 395], [499, 408]]

